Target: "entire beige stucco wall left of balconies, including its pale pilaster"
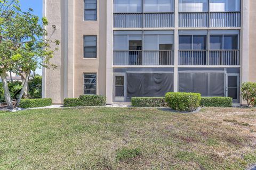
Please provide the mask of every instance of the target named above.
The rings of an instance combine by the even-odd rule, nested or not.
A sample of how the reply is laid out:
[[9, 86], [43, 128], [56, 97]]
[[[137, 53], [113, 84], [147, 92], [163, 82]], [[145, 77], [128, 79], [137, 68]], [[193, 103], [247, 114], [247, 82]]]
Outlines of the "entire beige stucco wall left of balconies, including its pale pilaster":
[[[83, 20], [83, 1], [44, 0], [44, 3], [49, 20], [47, 38], [60, 40], [60, 46], [51, 60], [57, 69], [45, 69], [43, 73], [43, 97], [60, 104], [65, 97], [83, 95], [83, 73], [97, 73], [97, 94], [106, 95], [106, 1], [98, 0], [97, 21]], [[97, 36], [97, 58], [83, 58], [84, 35]]]

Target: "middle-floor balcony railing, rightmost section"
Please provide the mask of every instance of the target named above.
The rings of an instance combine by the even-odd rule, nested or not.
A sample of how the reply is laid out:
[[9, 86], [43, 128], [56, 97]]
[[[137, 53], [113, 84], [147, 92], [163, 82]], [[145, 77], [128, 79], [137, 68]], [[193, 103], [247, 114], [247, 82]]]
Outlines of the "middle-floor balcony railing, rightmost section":
[[210, 50], [209, 65], [239, 65], [239, 50]]

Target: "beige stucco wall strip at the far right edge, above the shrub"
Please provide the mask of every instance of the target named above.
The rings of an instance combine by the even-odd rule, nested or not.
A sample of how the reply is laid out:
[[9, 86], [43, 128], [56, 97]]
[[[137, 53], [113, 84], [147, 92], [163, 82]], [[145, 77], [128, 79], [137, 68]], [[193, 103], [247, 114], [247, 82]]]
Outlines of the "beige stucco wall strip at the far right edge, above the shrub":
[[256, 1], [250, 0], [250, 36], [249, 36], [250, 81], [256, 82]]

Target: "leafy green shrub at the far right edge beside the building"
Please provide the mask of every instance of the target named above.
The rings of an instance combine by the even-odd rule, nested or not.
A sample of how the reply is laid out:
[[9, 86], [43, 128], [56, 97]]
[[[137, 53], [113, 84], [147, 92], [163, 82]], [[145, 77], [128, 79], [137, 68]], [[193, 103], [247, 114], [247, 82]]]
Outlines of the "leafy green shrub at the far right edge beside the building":
[[256, 83], [244, 82], [241, 87], [241, 97], [247, 101], [247, 105], [256, 104]]

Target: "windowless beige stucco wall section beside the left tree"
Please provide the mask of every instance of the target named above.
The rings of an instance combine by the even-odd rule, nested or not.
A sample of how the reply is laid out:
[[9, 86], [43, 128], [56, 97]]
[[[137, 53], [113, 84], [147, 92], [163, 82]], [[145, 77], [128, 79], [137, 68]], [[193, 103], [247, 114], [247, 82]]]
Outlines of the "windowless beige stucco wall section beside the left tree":
[[[51, 60], [51, 63], [57, 65], [57, 69], [44, 69], [43, 97], [52, 98], [53, 103], [58, 104], [62, 103], [64, 98], [64, 1], [45, 1], [45, 3], [45, 15], [49, 21], [46, 27], [47, 38], [60, 40], [60, 46]], [[52, 28], [52, 25], [56, 25], [56, 29]]]

